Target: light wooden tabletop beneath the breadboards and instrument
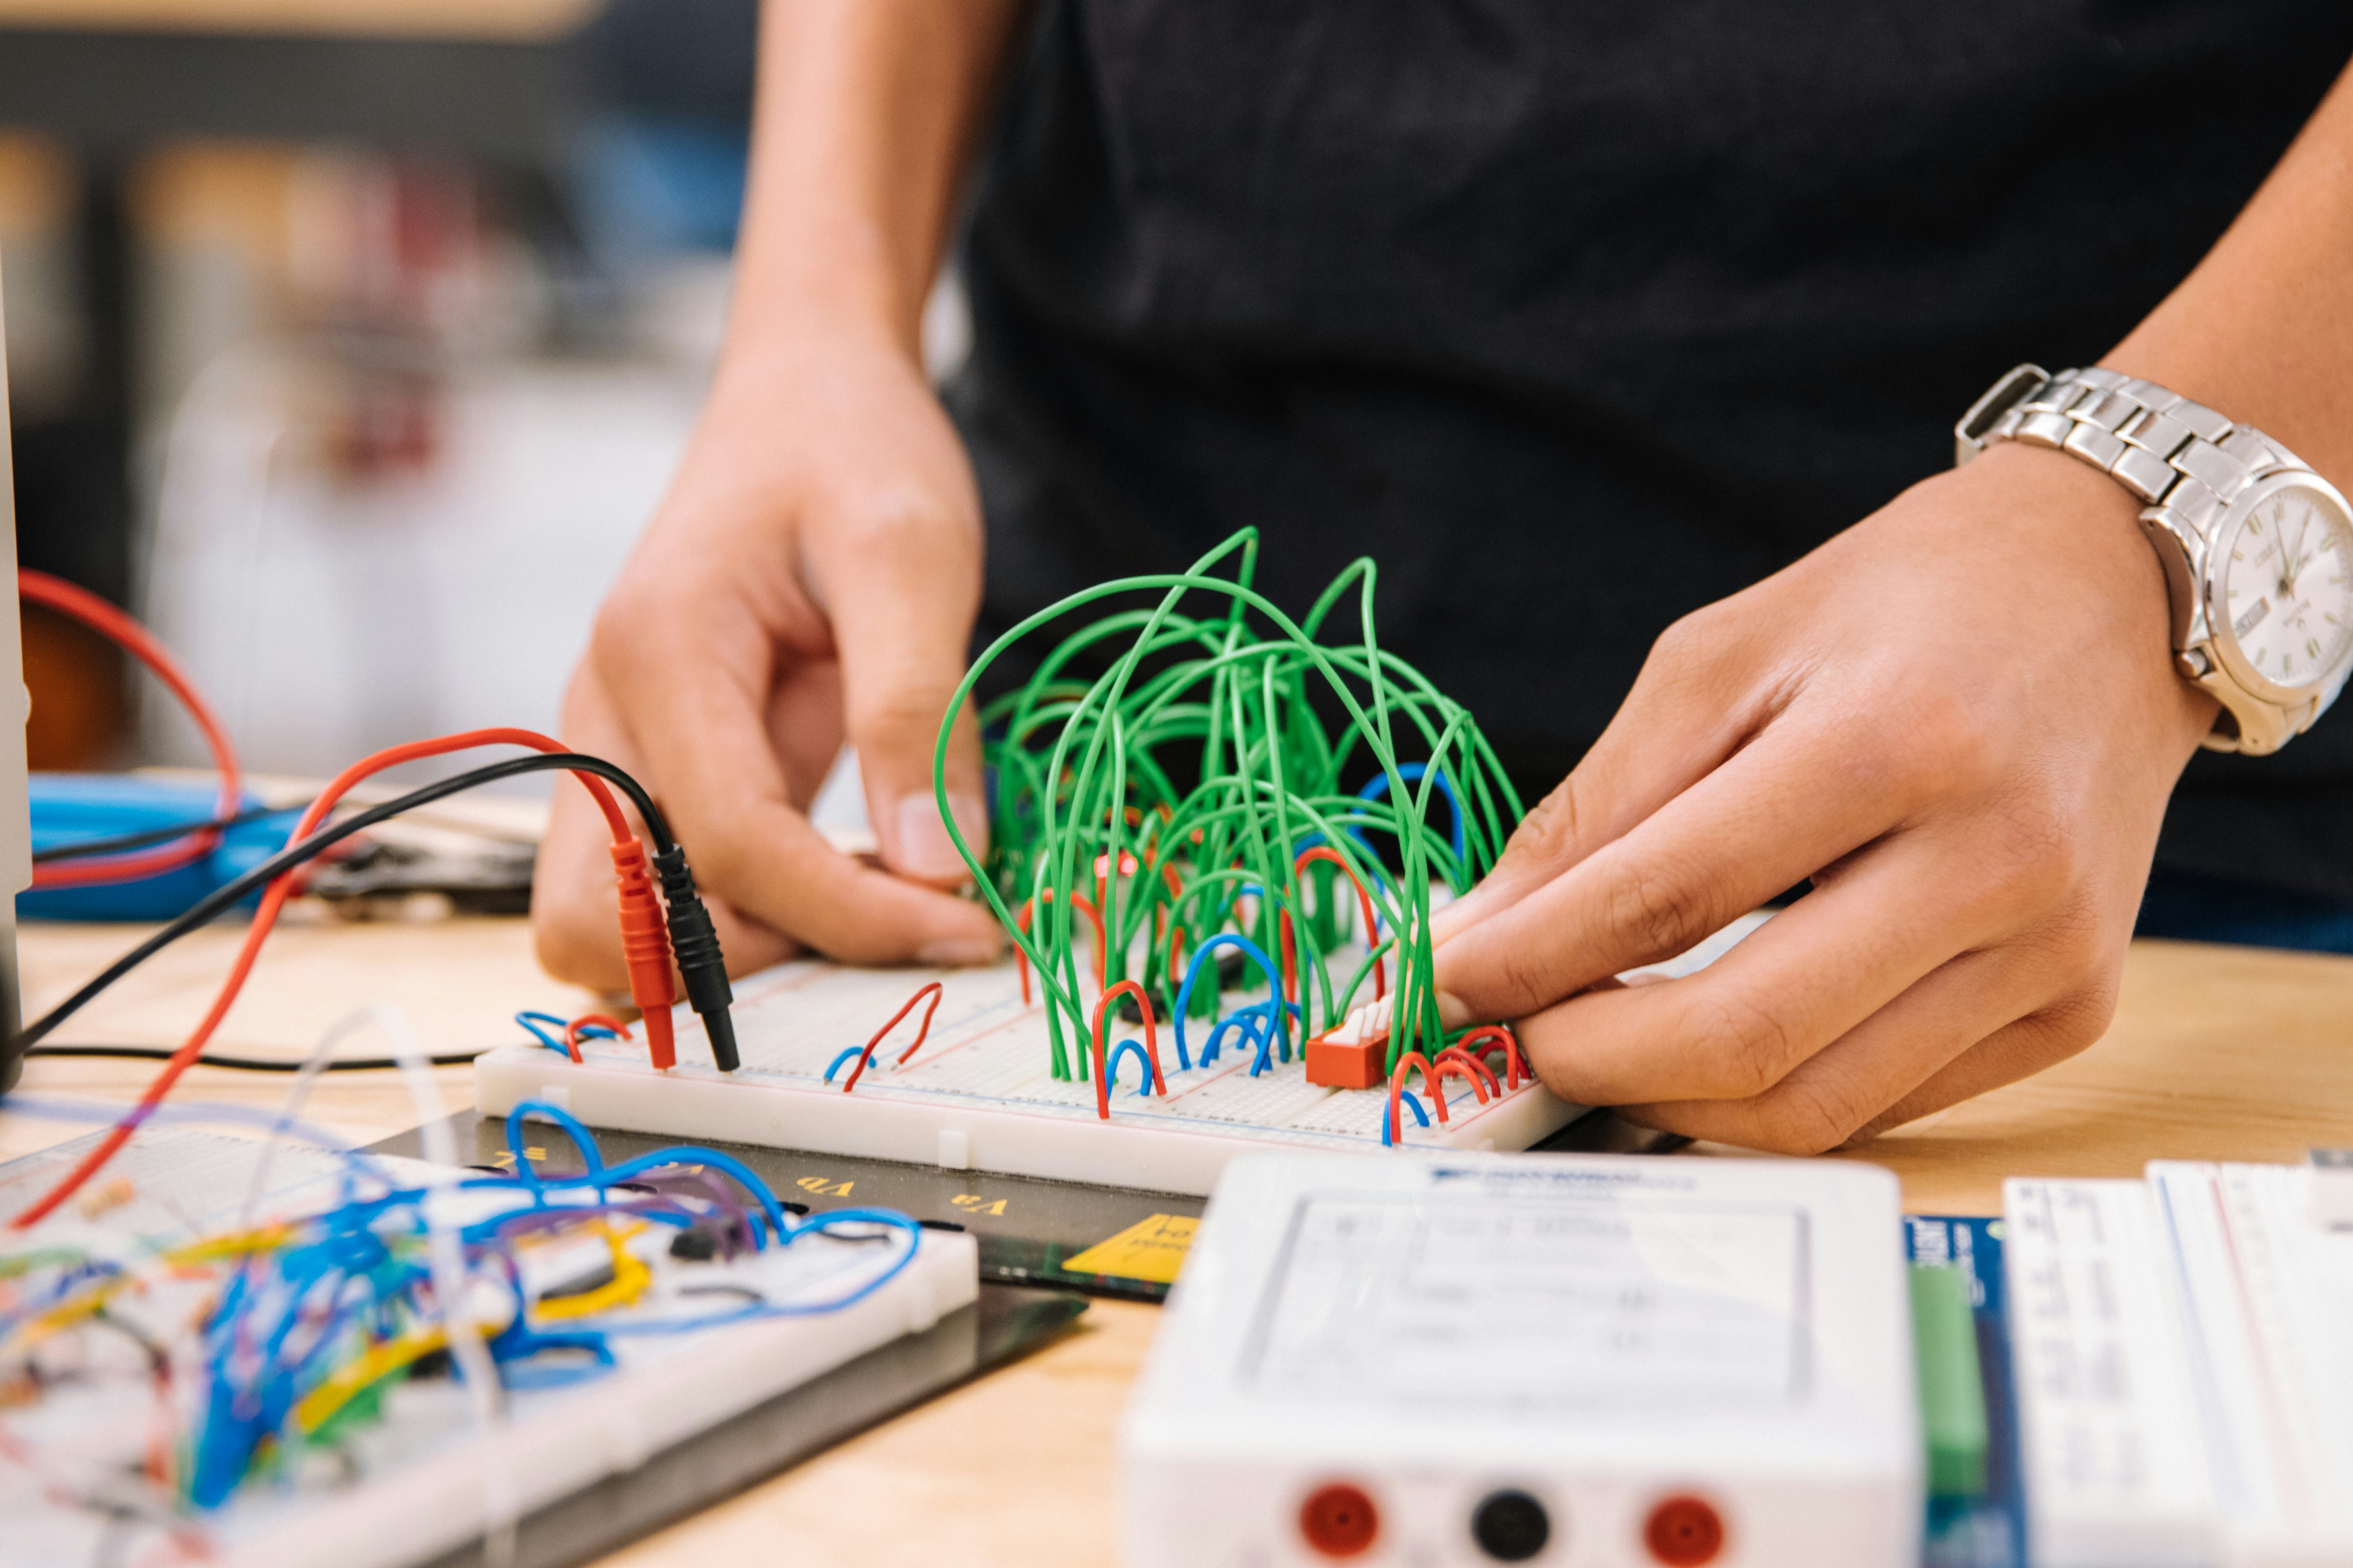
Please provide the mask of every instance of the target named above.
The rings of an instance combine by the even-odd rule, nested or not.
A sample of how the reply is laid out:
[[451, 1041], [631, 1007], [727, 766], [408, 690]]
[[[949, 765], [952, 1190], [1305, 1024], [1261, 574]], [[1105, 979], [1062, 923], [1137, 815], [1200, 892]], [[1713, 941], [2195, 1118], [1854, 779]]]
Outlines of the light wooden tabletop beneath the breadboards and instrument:
[[[24, 933], [28, 1016], [136, 940], [129, 926]], [[200, 931], [94, 1001], [59, 1041], [176, 1044], [238, 931]], [[522, 922], [289, 926], [273, 938], [216, 1048], [299, 1053], [372, 1001], [409, 1013], [433, 1051], [513, 1034], [525, 1006], [581, 992], [532, 964]], [[351, 1041], [355, 1053], [376, 1053]], [[35, 1060], [24, 1091], [127, 1100], [148, 1063]], [[468, 1070], [440, 1070], [452, 1107]], [[195, 1070], [181, 1098], [275, 1105], [285, 1079]], [[325, 1079], [313, 1119], [351, 1135], [414, 1121], [395, 1074]], [[0, 1157], [78, 1128], [0, 1100]], [[2137, 943], [2106, 1039], [2038, 1079], [1953, 1107], [1845, 1159], [1904, 1180], [1915, 1213], [1995, 1213], [2005, 1175], [2137, 1175], [2146, 1159], [2294, 1161], [2353, 1143], [2353, 959]], [[1718, 1152], [1718, 1150], [1711, 1150]], [[1115, 1427], [1155, 1309], [1094, 1302], [1047, 1349], [901, 1415], [687, 1523], [607, 1559], [614, 1568], [793, 1561], [798, 1568], [1115, 1561]]]

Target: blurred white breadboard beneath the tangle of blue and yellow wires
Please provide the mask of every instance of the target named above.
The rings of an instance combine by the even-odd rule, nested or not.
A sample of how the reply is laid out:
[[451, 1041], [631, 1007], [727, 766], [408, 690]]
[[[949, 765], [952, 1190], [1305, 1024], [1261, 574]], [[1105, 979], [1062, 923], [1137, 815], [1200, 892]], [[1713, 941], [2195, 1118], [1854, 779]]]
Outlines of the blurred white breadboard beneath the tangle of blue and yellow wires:
[[[92, 1143], [94, 1135], [0, 1166], [0, 1215], [28, 1206]], [[238, 1138], [151, 1128], [96, 1187], [120, 1192], [127, 1182], [129, 1201], [99, 1218], [68, 1206], [0, 1251], [73, 1246], [134, 1258], [231, 1229], [252, 1192], [259, 1150]], [[376, 1164], [407, 1175], [428, 1171], [419, 1161]], [[271, 1197], [254, 1218], [292, 1218], [334, 1204], [341, 1168], [329, 1154], [278, 1150]], [[704, 1291], [741, 1286], [788, 1307], [845, 1295], [887, 1265], [887, 1251], [812, 1234], [692, 1269]], [[106, 1312], [132, 1319], [179, 1359], [191, 1338], [186, 1328], [212, 1288], [165, 1279], [118, 1298]], [[976, 1295], [974, 1241], [927, 1229], [908, 1267], [849, 1307], [673, 1338], [616, 1338], [612, 1373], [567, 1387], [511, 1389], [504, 1420], [489, 1432], [452, 1378], [402, 1382], [386, 1396], [381, 1422], [355, 1429], [332, 1453], [306, 1455], [273, 1483], [247, 1483], [214, 1512], [174, 1512], [141, 1483], [158, 1434], [158, 1396], [146, 1366], [127, 1335], [80, 1331], [87, 1338], [80, 1373], [49, 1380], [38, 1399], [0, 1410], [0, 1561], [9, 1568], [108, 1561], [402, 1568], [431, 1561], [868, 1349], [922, 1333]], [[174, 1382], [200, 1382], [200, 1368], [174, 1366]]]

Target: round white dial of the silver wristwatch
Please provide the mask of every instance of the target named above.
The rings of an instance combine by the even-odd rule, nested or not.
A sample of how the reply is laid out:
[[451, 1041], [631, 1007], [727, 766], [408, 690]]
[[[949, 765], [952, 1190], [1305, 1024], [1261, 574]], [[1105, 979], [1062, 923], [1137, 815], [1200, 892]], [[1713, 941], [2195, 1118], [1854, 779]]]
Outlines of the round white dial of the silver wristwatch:
[[2353, 651], [2353, 520], [2327, 491], [2259, 491], [2221, 567], [2214, 635], [2259, 679], [2315, 686]]

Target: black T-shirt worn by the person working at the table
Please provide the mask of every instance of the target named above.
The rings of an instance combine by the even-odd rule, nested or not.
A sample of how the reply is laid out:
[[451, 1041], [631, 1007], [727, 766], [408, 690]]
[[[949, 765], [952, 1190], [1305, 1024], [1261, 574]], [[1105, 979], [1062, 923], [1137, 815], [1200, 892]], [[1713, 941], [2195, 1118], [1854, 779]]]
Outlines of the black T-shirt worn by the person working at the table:
[[[1668, 621], [2122, 339], [2348, 56], [2344, 0], [1047, 0], [951, 388], [984, 635], [1242, 524], [1292, 607], [1369, 552], [1541, 790]], [[2160, 863], [2353, 896], [2353, 705], [2193, 764]]]

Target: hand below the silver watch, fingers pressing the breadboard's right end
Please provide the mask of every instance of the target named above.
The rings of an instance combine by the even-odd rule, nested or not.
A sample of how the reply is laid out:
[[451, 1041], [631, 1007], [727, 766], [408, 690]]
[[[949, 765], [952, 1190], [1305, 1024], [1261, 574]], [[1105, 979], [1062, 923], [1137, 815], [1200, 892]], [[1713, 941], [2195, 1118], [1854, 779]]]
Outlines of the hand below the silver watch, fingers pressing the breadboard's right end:
[[[1567, 1100], [1786, 1152], [2092, 1044], [2214, 719], [2137, 505], [1998, 447], [1668, 628], [1440, 914], [1447, 1027], [1515, 1018]], [[1807, 877], [1706, 971], [1609, 983]]]

